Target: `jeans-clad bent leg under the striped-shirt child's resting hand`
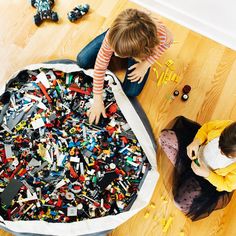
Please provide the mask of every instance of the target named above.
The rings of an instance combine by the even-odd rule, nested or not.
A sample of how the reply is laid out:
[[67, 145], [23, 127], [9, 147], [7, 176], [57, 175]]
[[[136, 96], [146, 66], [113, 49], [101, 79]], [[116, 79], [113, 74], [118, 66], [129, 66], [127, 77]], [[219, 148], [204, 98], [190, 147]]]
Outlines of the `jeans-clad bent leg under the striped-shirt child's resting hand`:
[[[129, 58], [128, 59], [128, 68], [136, 63], [137, 63], [137, 61], [135, 61], [133, 58]], [[127, 69], [122, 87], [123, 87], [125, 94], [128, 97], [136, 97], [141, 93], [141, 91], [147, 81], [149, 71], [150, 71], [150, 68], [147, 70], [147, 73], [145, 74], [143, 81], [139, 84], [138, 82], [131, 82], [128, 79], [128, 74], [130, 73], [130, 71], [128, 71], [128, 69]]]

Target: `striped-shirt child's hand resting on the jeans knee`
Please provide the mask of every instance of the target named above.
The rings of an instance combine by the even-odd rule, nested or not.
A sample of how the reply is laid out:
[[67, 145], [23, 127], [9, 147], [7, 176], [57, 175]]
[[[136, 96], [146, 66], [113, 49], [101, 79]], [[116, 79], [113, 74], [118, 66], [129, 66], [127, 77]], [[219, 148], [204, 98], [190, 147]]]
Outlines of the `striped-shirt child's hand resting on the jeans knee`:
[[150, 63], [147, 61], [141, 61], [132, 65], [128, 68], [128, 70], [133, 70], [132, 72], [129, 72], [128, 79], [131, 80], [131, 82], [138, 81], [138, 83], [140, 84], [143, 81], [143, 78], [150, 66]]

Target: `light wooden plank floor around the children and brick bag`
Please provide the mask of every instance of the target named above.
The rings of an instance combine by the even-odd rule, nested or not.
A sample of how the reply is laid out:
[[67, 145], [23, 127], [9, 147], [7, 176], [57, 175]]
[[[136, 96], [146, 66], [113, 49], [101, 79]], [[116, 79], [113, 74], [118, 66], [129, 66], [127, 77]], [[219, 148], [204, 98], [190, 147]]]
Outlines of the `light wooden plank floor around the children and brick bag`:
[[[91, 6], [90, 13], [78, 23], [72, 24], [67, 20], [66, 13], [78, 1], [55, 1], [54, 10], [59, 14], [59, 23], [43, 23], [38, 28], [32, 21], [35, 9], [29, 2], [0, 1], [1, 85], [12, 73], [28, 64], [61, 58], [75, 59], [77, 52], [107, 29], [120, 11], [130, 7], [140, 8], [127, 0], [88, 0], [86, 3]], [[180, 76], [180, 80], [178, 83], [168, 81], [158, 86], [157, 77], [152, 71], [138, 98], [150, 120], [156, 139], [160, 130], [178, 115], [187, 116], [200, 123], [211, 119], [236, 120], [236, 52], [175, 22], [160, 18], [173, 32], [176, 42], [160, 59], [162, 67], [155, 67], [160, 75], [166, 69], [167, 60], [173, 60], [174, 72]], [[189, 100], [182, 102], [180, 97], [172, 100], [170, 97], [174, 89], [181, 91], [185, 84], [192, 87]], [[161, 153], [157, 158], [158, 163], [165, 162]], [[149, 205], [110, 235], [236, 235], [236, 196], [234, 195], [224, 210], [192, 223], [175, 208], [168, 185], [163, 185], [163, 178], [164, 182], [169, 180], [170, 168], [166, 164], [160, 170], [160, 181], [152, 198], [155, 205]], [[163, 232], [163, 222], [170, 217], [173, 217], [173, 222], [166, 228], [167, 232]], [[10, 234], [0, 231], [0, 235]]]

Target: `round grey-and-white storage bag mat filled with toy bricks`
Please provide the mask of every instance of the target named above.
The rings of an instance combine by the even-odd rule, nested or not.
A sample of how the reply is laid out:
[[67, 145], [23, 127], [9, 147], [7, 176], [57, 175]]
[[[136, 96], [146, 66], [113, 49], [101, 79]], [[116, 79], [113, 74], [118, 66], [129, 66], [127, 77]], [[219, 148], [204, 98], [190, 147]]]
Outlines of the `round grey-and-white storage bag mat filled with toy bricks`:
[[107, 118], [89, 125], [92, 76], [63, 60], [29, 65], [2, 85], [3, 229], [102, 235], [149, 203], [159, 173], [147, 117], [107, 71]]

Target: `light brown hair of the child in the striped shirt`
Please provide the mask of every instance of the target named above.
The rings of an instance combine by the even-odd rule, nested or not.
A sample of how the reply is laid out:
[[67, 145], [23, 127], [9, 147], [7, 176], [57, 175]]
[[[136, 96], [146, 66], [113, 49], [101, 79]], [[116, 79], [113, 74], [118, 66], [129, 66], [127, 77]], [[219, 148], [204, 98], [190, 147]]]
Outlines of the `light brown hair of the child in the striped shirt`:
[[120, 57], [144, 59], [159, 44], [153, 20], [136, 9], [122, 11], [111, 25], [108, 42]]

